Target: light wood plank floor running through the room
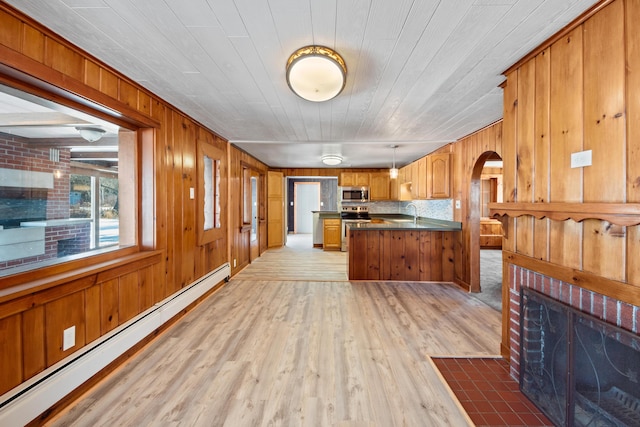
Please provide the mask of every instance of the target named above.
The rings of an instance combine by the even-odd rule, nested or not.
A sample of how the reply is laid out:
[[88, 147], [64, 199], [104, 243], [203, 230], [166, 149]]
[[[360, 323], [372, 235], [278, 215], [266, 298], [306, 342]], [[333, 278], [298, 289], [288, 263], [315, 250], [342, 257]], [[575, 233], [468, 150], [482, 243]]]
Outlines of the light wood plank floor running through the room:
[[320, 281], [344, 267], [318, 250], [303, 279], [272, 279], [263, 266], [291, 250], [265, 253], [51, 425], [470, 424], [429, 356], [496, 355], [499, 313], [447, 284]]

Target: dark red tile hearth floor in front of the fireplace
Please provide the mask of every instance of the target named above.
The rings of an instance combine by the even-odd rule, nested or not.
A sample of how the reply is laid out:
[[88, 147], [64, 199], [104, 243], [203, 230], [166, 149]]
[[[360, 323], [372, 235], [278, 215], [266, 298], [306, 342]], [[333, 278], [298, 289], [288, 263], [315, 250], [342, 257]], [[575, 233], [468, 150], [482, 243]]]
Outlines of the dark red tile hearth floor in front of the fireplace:
[[501, 358], [432, 358], [473, 423], [480, 426], [553, 426], [525, 397]]

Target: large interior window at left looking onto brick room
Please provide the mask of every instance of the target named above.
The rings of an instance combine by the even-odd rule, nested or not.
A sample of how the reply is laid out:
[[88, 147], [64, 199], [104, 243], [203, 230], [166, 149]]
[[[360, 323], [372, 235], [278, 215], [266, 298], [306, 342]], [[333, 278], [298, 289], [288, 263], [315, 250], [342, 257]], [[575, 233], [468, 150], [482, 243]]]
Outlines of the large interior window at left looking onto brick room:
[[6, 86], [0, 111], [0, 276], [135, 243], [135, 132]]

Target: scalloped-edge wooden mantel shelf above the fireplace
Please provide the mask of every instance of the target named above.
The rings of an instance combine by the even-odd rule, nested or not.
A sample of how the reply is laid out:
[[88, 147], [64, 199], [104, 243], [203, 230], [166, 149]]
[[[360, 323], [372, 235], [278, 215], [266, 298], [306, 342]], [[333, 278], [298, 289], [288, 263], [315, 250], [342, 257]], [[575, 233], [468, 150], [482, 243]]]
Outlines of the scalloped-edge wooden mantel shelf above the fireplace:
[[640, 224], [640, 203], [489, 203], [489, 210], [493, 218], [501, 221], [530, 215], [554, 221], [599, 219], [621, 226]]

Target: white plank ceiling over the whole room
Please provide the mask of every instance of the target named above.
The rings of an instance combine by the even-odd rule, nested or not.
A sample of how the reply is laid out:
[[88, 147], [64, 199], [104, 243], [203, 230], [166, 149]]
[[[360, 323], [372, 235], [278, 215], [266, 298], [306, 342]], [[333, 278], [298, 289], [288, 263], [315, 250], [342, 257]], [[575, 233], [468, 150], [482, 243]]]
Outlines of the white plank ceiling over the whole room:
[[[502, 117], [501, 73], [597, 0], [6, 0], [272, 167], [409, 163]], [[345, 90], [285, 81], [320, 44]]]

